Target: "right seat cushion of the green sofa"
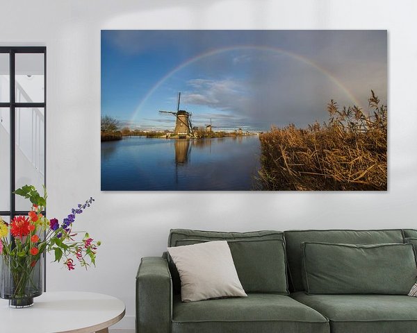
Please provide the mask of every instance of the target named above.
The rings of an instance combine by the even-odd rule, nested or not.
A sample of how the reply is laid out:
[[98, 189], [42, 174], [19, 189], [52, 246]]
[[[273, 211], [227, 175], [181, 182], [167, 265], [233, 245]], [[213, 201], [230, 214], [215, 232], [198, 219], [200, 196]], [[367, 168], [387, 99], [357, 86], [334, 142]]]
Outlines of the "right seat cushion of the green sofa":
[[417, 332], [417, 298], [398, 295], [306, 295], [295, 300], [330, 321], [332, 333]]

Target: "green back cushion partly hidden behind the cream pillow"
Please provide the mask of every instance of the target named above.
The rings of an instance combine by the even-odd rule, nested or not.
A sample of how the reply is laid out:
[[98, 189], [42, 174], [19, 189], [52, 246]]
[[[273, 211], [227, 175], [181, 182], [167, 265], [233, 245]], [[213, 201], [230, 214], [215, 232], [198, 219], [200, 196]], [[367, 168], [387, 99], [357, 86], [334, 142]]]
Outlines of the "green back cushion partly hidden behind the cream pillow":
[[[177, 246], [206, 242], [182, 239]], [[247, 293], [288, 295], [288, 278], [283, 239], [242, 239], [227, 241], [240, 283]]]

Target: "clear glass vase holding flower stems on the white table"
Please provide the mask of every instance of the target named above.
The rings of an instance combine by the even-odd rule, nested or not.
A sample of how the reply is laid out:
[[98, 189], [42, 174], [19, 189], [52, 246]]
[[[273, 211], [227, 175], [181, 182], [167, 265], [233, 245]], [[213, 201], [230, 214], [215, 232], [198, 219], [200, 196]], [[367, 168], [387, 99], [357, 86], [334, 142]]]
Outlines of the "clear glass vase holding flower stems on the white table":
[[0, 298], [13, 308], [30, 307], [43, 291], [43, 255], [32, 257], [0, 255]]

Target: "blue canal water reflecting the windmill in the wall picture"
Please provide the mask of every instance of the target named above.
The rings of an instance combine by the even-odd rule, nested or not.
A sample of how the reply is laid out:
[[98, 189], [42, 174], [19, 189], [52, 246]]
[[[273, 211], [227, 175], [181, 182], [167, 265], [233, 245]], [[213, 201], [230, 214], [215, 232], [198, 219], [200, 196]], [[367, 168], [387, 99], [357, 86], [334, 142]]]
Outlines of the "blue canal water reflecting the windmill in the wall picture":
[[101, 142], [102, 191], [250, 191], [259, 137]]

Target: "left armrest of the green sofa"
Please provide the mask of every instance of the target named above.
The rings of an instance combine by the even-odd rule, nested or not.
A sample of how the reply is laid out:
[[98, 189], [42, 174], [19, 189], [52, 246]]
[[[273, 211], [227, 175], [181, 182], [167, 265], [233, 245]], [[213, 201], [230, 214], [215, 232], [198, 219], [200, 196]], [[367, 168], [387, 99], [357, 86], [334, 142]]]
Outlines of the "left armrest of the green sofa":
[[162, 257], [145, 257], [136, 275], [136, 332], [170, 333], [172, 280]]

